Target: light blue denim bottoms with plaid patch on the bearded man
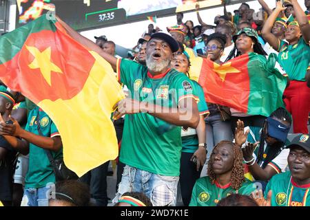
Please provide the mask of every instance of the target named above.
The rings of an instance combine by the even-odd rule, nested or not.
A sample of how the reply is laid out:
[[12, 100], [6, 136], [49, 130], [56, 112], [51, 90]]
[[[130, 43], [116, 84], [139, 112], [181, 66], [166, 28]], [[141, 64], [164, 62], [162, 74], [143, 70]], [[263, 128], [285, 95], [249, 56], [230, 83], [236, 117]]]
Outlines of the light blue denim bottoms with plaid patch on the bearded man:
[[178, 179], [179, 177], [157, 175], [126, 165], [112, 202], [116, 203], [125, 192], [143, 192], [151, 199], [153, 206], [176, 206]]

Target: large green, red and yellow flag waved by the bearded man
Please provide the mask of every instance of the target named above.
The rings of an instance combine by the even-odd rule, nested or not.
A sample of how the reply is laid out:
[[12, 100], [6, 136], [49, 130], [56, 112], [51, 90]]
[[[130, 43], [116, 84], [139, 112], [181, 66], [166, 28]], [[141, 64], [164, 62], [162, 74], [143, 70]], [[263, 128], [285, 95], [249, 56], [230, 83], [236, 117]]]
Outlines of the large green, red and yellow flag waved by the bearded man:
[[114, 104], [124, 98], [113, 69], [43, 15], [0, 37], [0, 80], [48, 113], [66, 166], [81, 176], [115, 159]]

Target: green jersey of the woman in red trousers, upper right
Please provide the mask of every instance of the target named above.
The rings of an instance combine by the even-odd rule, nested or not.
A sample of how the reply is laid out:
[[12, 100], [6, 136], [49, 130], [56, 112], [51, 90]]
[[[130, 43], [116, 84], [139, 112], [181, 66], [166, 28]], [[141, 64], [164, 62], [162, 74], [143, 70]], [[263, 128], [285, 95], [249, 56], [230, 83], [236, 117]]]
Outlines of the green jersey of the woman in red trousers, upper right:
[[278, 62], [285, 69], [289, 79], [305, 81], [310, 62], [310, 47], [300, 38], [295, 45], [288, 45], [281, 41]]

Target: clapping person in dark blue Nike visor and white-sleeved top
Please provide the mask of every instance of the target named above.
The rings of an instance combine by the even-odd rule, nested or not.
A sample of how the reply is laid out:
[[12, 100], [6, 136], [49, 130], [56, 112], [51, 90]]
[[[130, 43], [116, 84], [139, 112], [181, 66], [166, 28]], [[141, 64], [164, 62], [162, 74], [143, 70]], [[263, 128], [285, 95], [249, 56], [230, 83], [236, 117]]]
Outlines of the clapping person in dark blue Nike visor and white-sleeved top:
[[[245, 175], [248, 179], [269, 181], [273, 175], [285, 172], [289, 149], [285, 148], [291, 127], [288, 111], [278, 108], [265, 120], [262, 129], [244, 127], [237, 122], [235, 142], [242, 148]], [[262, 182], [263, 186], [265, 185]]]

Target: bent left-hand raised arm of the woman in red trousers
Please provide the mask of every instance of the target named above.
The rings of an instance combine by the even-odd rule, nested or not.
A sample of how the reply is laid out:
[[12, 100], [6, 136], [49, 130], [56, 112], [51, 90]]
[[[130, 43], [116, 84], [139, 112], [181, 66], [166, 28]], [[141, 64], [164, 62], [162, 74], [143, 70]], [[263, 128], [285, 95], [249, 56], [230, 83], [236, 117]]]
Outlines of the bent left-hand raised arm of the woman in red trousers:
[[271, 33], [271, 29], [273, 27], [273, 23], [276, 21], [276, 18], [278, 17], [278, 14], [285, 10], [282, 3], [280, 1], [277, 1], [276, 9], [270, 14], [267, 21], [265, 22], [264, 27], [262, 27], [262, 37], [273, 47], [274, 50], [279, 50], [280, 46], [280, 39], [278, 39], [276, 36], [274, 36]]

